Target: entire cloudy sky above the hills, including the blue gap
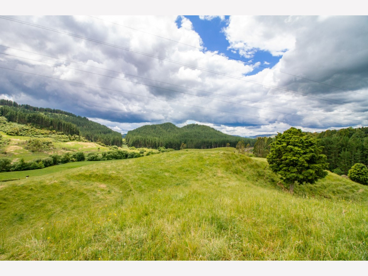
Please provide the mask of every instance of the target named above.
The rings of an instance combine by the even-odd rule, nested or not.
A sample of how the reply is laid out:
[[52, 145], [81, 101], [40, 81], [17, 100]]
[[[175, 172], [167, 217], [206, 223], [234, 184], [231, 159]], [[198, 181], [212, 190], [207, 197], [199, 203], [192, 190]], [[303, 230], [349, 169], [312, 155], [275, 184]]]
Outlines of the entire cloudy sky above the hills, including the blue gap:
[[0, 16], [0, 98], [127, 133], [368, 125], [368, 16]]

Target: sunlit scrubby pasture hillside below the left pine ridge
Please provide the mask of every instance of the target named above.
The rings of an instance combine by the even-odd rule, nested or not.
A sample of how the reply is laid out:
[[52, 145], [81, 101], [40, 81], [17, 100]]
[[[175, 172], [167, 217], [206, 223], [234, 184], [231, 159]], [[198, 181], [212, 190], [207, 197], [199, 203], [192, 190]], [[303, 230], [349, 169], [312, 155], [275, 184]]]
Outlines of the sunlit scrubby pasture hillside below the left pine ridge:
[[[17, 136], [15, 133], [9, 131], [14, 128], [21, 130], [19, 133], [21, 136]], [[11, 133], [12, 135], [8, 135], [7, 133]], [[4, 117], [0, 117], [0, 163], [4, 162], [4, 159], [10, 163], [7, 167], [1, 167], [0, 181], [22, 178], [27, 175], [33, 176], [42, 174], [38, 171], [38, 167], [23, 167], [22, 169], [19, 169], [17, 164], [20, 164], [22, 160], [25, 164], [31, 164], [32, 162], [33, 164], [35, 162], [36, 164], [40, 164], [40, 162], [42, 162], [43, 166], [41, 167], [49, 167], [56, 165], [57, 163], [60, 164], [75, 161], [74, 159], [72, 160], [73, 156], [81, 152], [84, 154], [85, 160], [100, 160], [103, 158], [103, 155], [106, 157], [105, 160], [122, 159], [122, 156], [116, 156], [118, 151], [120, 151], [120, 153], [125, 152], [127, 155], [134, 155], [134, 157], [159, 152], [156, 150], [148, 151], [147, 149], [128, 148], [126, 145], [123, 145], [124, 148], [118, 148], [117, 146], [106, 146], [95, 142], [88, 142], [83, 137], [79, 137], [79, 139], [81, 141], [70, 141], [70, 138], [67, 135], [41, 128], [35, 128], [30, 125], [10, 123], [7, 122], [6, 119], [4, 120]], [[58, 156], [58, 162], [53, 163], [51, 160], [48, 161], [49, 163], [46, 163], [47, 159], [50, 159], [50, 156], [55, 158], [55, 155]], [[90, 155], [92, 155], [92, 157]], [[64, 158], [65, 156], [68, 156], [68, 159], [62, 160], [63, 156]], [[125, 156], [125, 158], [132, 157], [133, 156]], [[82, 162], [79, 164], [79, 162], [72, 162], [70, 164], [63, 164], [60, 167], [59, 165], [57, 167], [49, 167], [47, 171], [54, 172], [64, 170], [66, 168], [84, 166], [85, 164], [89, 163]], [[15, 170], [18, 172], [3, 172], [4, 170]]]

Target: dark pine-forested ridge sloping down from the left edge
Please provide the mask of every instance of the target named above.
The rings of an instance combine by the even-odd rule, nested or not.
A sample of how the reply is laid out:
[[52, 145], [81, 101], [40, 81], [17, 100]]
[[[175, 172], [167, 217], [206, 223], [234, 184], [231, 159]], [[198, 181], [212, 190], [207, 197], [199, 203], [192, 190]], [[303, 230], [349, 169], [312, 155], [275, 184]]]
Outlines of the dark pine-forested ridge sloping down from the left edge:
[[88, 120], [59, 109], [19, 105], [11, 100], [0, 99], [0, 116], [18, 124], [31, 124], [36, 127], [63, 132], [66, 135], [80, 135], [92, 142], [121, 146], [119, 132], [105, 125]]

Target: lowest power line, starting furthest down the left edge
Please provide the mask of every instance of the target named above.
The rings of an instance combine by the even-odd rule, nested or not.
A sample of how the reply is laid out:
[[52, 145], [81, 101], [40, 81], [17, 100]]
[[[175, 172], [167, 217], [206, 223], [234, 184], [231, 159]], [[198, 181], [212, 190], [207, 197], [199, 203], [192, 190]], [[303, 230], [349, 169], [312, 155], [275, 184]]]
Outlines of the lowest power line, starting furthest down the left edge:
[[[31, 73], [31, 72], [25, 72], [25, 71], [21, 71], [21, 70], [15, 70], [15, 69], [1, 67], [1, 66], [0, 66], [0, 68], [11, 70], [11, 71], [16, 71], [16, 72], [21, 72], [21, 73], [26, 73], [26, 74], [31, 74], [31, 75], [36, 75], [36, 76], [40, 76], [40, 77], [57, 79], [59, 81], [66, 81], [66, 82], [70, 82], [70, 83], [74, 83], [74, 84], [81, 84], [81, 85], [91, 86], [91, 87], [94, 87], [94, 88], [105, 89], [105, 90], [110, 90], [110, 91], [115, 91], [115, 92], [120, 92], [120, 93], [135, 95], [135, 96], [140, 96], [140, 97], [149, 98], [149, 99], [155, 99], [155, 100], [162, 100], [162, 101], [165, 101], [165, 102], [177, 103], [177, 104], [180, 104], [180, 105], [187, 105], [187, 106], [192, 106], [192, 107], [199, 107], [199, 108], [209, 109], [209, 110], [213, 110], [213, 111], [219, 111], [219, 112], [231, 113], [231, 114], [236, 114], [236, 115], [241, 115], [241, 116], [248, 116], [248, 117], [260, 118], [260, 119], [265, 119], [265, 120], [270, 120], [270, 121], [275, 121], [275, 122], [282, 122], [282, 123], [287, 123], [287, 124], [304, 125], [306, 127], [311, 127], [311, 128], [314, 128], [315, 127], [315, 126], [312, 126], [312, 125], [306, 125], [306, 124], [302, 124], [302, 123], [293, 123], [291, 121], [276, 120], [276, 119], [273, 119], [273, 118], [259, 117], [259, 116], [254, 116], [254, 115], [248, 115], [248, 114], [230, 112], [230, 111], [226, 111], [226, 110], [213, 109], [213, 108], [210, 108], [210, 107], [190, 105], [188, 103], [174, 102], [174, 101], [171, 101], [171, 100], [159, 99], [159, 98], [154, 98], [154, 97], [150, 97], [150, 96], [144, 96], [144, 95], [139, 95], [139, 94], [135, 94], [135, 93], [124, 92], [124, 91], [120, 91], [120, 90], [116, 90], [116, 89], [110, 89], [110, 88], [105, 88], [105, 87], [91, 85], [91, 84], [84, 84], [84, 83], [76, 82], [76, 81], [68, 81], [66, 79], [59, 79], [59, 78], [55, 78], [55, 77], [50, 77], [50, 76], [35, 74], [35, 73]], [[317, 119], [315, 119], [315, 120], [317, 120]]]

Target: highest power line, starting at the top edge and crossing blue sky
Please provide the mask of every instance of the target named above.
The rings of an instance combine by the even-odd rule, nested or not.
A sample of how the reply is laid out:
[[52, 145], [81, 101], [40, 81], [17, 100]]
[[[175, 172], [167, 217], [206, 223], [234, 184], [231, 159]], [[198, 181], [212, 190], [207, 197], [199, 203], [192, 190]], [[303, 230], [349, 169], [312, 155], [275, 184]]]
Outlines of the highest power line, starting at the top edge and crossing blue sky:
[[227, 58], [232, 59], [232, 60], [241, 61], [241, 62], [248, 63], [248, 64], [251, 64], [251, 65], [255, 65], [255, 66], [258, 66], [258, 67], [262, 67], [262, 68], [265, 68], [265, 69], [268, 69], [268, 70], [272, 70], [272, 71], [275, 71], [275, 72], [280, 72], [280, 73], [283, 73], [283, 74], [286, 74], [286, 75], [290, 75], [290, 76], [293, 76], [293, 77], [297, 77], [297, 78], [305, 79], [305, 80], [308, 80], [308, 81], [316, 82], [316, 83], [318, 83], [318, 84], [327, 85], [327, 86], [330, 86], [330, 87], [333, 87], [333, 88], [341, 89], [341, 90], [343, 90], [343, 91], [352, 92], [352, 93], [356, 93], [356, 94], [359, 94], [359, 95], [367, 96], [367, 95], [364, 95], [364, 94], [362, 94], [362, 93], [358, 93], [358, 92], [355, 92], [355, 91], [351, 91], [351, 90], [344, 89], [344, 88], [341, 88], [341, 87], [338, 87], [338, 86], [334, 86], [334, 85], [330, 85], [330, 84], [325, 84], [324, 82], [315, 81], [315, 80], [313, 80], [313, 79], [309, 79], [309, 78], [301, 77], [301, 76], [298, 76], [298, 75], [293, 75], [293, 74], [290, 74], [290, 73], [287, 73], [287, 72], [283, 72], [283, 71], [280, 71], [280, 70], [276, 70], [276, 69], [273, 69], [273, 68], [269, 68], [269, 67], [266, 67], [266, 66], [262, 66], [262, 65], [259, 65], [259, 64], [256, 64], [256, 63], [252, 63], [252, 62], [250, 62], [250, 61], [245, 61], [245, 60], [237, 59], [237, 58], [235, 58], [235, 57], [230, 57], [230, 56], [227, 56], [226, 54], [223, 54], [223, 53], [217, 53], [217, 52], [215, 52], [215, 51], [206, 50], [206, 49], [204, 49], [204, 48], [200, 48], [200, 47], [196, 47], [196, 46], [193, 46], [193, 45], [189, 45], [189, 44], [186, 44], [186, 43], [183, 43], [183, 42], [179, 42], [179, 41], [176, 41], [176, 40], [173, 40], [173, 39], [170, 39], [170, 38], [165, 38], [165, 37], [163, 37], [163, 36], [155, 35], [155, 34], [153, 34], [153, 33], [145, 32], [145, 31], [138, 30], [138, 29], [135, 29], [135, 28], [132, 28], [132, 27], [129, 27], [129, 26], [121, 25], [121, 24], [118, 24], [118, 23], [116, 23], [116, 22], [112, 22], [112, 21], [108, 21], [108, 20], [105, 20], [105, 19], [102, 19], [102, 18], [94, 17], [94, 16], [92, 16], [92, 15], [88, 15], [88, 16], [89, 16], [89, 17], [92, 17], [92, 18], [95, 18], [95, 19], [98, 19], [98, 20], [101, 20], [101, 21], [109, 22], [109, 23], [111, 23], [111, 24], [115, 24], [115, 25], [118, 25], [118, 26], [121, 26], [121, 27], [124, 27], [124, 28], [132, 29], [132, 30], [134, 30], [134, 31], [138, 31], [138, 32], [146, 33], [146, 34], [148, 34], [148, 35], [152, 35], [152, 36], [156, 36], [156, 37], [158, 37], [158, 38], [162, 38], [162, 39], [166, 39], [166, 40], [169, 40], [169, 41], [172, 41], [172, 42], [180, 43], [180, 44], [183, 44], [183, 45], [185, 45], [185, 46], [190, 46], [190, 47], [193, 47], [193, 48], [195, 48], [195, 49], [199, 49], [199, 50], [201, 50], [201, 51], [203, 51], [203, 52], [213, 53], [213, 54], [216, 54], [216, 55], [218, 55], [218, 56], [227, 57]]

